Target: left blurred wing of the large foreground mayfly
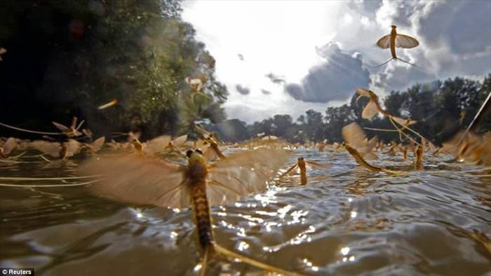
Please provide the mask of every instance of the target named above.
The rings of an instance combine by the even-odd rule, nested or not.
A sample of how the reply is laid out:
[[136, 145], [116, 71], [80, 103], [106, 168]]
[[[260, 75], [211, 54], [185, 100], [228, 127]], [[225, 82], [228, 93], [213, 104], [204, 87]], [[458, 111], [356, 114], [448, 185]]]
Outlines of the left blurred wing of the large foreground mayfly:
[[104, 174], [90, 191], [120, 202], [171, 208], [189, 206], [180, 167], [141, 156], [93, 158], [80, 167], [86, 175]]

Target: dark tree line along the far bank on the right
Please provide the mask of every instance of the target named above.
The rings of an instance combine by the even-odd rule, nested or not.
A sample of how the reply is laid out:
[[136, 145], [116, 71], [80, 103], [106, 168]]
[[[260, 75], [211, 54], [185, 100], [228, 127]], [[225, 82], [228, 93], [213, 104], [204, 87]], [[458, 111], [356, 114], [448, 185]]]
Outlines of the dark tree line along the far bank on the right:
[[[376, 92], [376, 91], [375, 91]], [[417, 84], [405, 91], [391, 91], [382, 99], [386, 111], [394, 116], [416, 120], [412, 129], [435, 144], [445, 142], [458, 130], [465, 129], [491, 92], [491, 74], [482, 82], [456, 77], [446, 81]], [[246, 125], [240, 120], [227, 120], [208, 125], [228, 141], [240, 141], [258, 134], [275, 135], [290, 142], [342, 142], [344, 125], [357, 122], [362, 127], [394, 130], [387, 118], [376, 116], [372, 120], [361, 118], [368, 98], [353, 95], [349, 104], [328, 107], [325, 113], [308, 110], [295, 121], [290, 115], [278, 114]], [[381, 102], [381, 104], [382, 104]], [[478, 125], [478, 132], [491, 130], [491, 112], [487, 112]], [[377, 135], [385, 142], [399, 139], [396, 132], [365, 130], [369, 137]]]

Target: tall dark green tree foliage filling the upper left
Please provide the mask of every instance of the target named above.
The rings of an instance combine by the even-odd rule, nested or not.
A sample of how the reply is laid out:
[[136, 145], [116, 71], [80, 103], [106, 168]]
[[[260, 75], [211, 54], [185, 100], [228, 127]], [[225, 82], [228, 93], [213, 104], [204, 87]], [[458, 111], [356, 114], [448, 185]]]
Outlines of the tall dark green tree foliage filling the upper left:
[[[22, 43], [31, 37], [40, 55], [29, 59], [40, 64], [38, 71], [3, 82], [4, 89], [32, 98], [48, 120], [77, 115], [96, 132], [142, 130], [149, 137], [176, 133], [191, 119], [219, 122], [227, 89], [216, 81], [215, 60], [196, 41], [194, 28], [180, 19], [180, 5], [179, 0], [4, 3], [0, 43], [11, 54], [4, 64], [19, 66]], [[187, 99], [192, 92], [187, 76], [206, 80], [202, 91], [209, 100]], [[19, 88], [23, 78], [38, 81]], [[117, 106], [97, 110], [112, 99]], [[46, 111], [48, 106], [53, 108]]]

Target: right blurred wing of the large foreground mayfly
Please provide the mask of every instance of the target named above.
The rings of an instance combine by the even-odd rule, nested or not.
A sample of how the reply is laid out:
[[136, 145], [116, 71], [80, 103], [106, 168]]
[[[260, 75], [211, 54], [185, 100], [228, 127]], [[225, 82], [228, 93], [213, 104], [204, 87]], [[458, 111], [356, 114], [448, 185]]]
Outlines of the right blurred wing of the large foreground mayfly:
[[265, 191], [267, 181], [276, 175], [286, 157], [287, 151], [260, 148], [218, 161], [208, 174], [210, 205], [223, 205], [244, 195]]

